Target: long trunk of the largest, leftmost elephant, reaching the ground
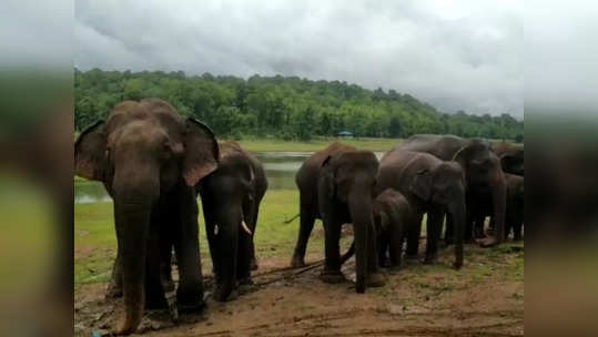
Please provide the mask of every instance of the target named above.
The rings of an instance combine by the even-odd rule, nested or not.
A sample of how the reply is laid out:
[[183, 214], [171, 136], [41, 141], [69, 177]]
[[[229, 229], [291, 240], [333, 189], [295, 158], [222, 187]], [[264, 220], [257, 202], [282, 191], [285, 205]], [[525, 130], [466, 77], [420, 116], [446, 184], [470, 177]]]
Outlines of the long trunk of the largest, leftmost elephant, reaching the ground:
[[124, 297], [124, 314], [116, 333], [131, 334], [141, 323], [145, 305], [150, 218], [160, 185], [158, 180], [132, 183], [119, 177], [115, 177], [114, 183], [119, 186], [114, 190], [114, 224]]

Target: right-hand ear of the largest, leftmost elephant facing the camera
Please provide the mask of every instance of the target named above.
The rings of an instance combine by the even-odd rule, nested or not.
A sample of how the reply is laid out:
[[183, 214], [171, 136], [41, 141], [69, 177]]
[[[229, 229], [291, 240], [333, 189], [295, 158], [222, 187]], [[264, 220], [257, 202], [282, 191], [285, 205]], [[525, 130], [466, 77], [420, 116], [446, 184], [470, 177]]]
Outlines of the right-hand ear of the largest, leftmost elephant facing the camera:
[[219, 145], [214, 133], [207, 125], [189, 118], [185, 121], [183, 139], [185, 156], [183, 159], [183, 177], [189, 186], [214, 172], [219, 165]]

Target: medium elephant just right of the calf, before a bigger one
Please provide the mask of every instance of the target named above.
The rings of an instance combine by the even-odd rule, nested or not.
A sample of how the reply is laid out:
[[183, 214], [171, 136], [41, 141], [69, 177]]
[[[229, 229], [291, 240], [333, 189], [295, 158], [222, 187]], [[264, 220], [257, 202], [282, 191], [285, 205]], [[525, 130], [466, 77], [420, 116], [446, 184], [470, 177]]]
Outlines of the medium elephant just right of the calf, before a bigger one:
[[422, 218], [427, 213], [427, 245], [424, 263], [435, 262], [444, 213], [448, 212], [456, 229], [454, 266], [457, 269], [460, 268], [466, 216], [466, 178], [462, 166], [424, 152], [392, 150], [381, 160], [376, 180], [377, 191], [394, 188], [405, 196], [412, 207], [413, 221], [406, 228], [407, 257], [417, 256]]

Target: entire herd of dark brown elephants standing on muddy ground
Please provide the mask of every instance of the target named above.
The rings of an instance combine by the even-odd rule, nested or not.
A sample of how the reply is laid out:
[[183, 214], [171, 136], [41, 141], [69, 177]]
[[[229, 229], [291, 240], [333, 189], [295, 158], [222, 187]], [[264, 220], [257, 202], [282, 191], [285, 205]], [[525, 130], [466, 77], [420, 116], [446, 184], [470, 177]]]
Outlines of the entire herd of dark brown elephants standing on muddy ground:
[[[215, 275], [213, 296], [230, 300], [251, 284], [257, 268], [253, 235], [267, 190], [261, 163], [235, 142], [217, 143], [203, 123], [182, 118], [165, 101], [119, 103], [105, 121], [75, 142], [75, 174], [100, 181], [113, 200], [118, 249], [108, 295], [123, 297], [115, 334], [131, 334], [144, 309], [166, 308], [179, 280], [176, 308], [204, 306], [200, 264], [201, 197]], [[521, 238], [523, 147], [491, 146], [457, 136], [415, 135], [377, 160], [374, 153], [334, 143], [305, 160], [296, 174], [301, 225], [292, 266], [304, 256], [316, 218], [325, 231], [321, 279], [344, 282], [342, 264], [353, 254], [356, 290], [384, 284], [379, 267], [398, 268], [418, 252], [427, 214], [425, 263], [433, 263], [446, 215], [445, 242], [455, 245], [454, 266], [464, 263], [464, 243], [483, 238], [490, 216], [494, 235], [482, 246], [500, 244], [509, 232]], [[341, 256], [343, 224], [354, 243]]]

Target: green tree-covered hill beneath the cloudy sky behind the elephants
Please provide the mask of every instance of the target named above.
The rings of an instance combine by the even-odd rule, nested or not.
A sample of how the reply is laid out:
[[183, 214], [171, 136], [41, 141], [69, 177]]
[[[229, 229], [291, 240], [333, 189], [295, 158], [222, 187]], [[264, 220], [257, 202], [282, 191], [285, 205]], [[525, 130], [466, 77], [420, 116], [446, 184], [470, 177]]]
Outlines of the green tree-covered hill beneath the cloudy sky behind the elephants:
[[409, 94], [372, 91], [339, 81], [297, 76], [185, 75], [183, 72], [74, 72], [74, 125], [81, 131], [126, 99], [162, 98], [179, 113], [207, 123], [219, 137], [310, 140], [339, 131], [356, 136], [407, 137], [450, 133], [523, 139], [524, 123], [508, 114], [445, 114]]

